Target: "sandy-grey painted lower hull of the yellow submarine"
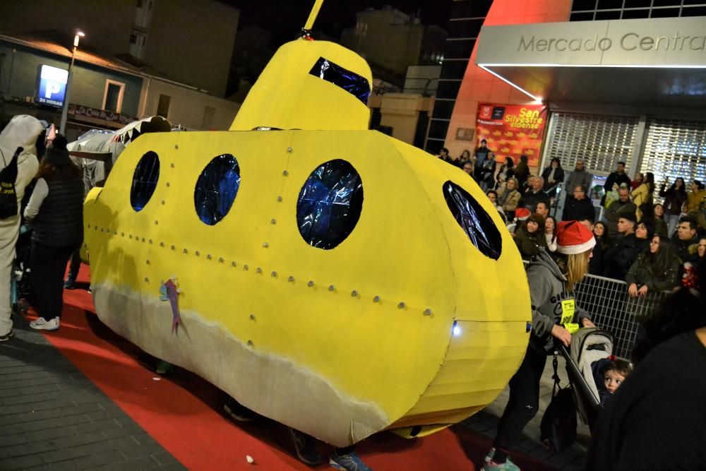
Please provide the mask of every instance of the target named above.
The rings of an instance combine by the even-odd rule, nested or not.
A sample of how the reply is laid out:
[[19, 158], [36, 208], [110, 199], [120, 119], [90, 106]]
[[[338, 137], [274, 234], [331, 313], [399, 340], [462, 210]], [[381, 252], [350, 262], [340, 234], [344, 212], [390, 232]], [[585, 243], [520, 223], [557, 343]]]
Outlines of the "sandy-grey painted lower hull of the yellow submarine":
[[361, 441], [391, 423], [376, 404], [341, 393], [305, 366], [258, 351], [194, 311], [181, 310], [177, 334], [168, 301], [107, 284], [92, 285], [92, 293], [98, 317], [115, 333], [193, 371], [260, 415], [334, 446]]

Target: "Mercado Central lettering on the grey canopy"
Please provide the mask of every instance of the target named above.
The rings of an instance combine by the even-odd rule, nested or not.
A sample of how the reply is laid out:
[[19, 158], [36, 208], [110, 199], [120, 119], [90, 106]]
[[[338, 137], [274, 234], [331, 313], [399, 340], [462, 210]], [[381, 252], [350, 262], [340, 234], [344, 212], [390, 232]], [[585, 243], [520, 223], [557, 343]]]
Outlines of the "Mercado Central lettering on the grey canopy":
[[617, 44], [623, 51], [703, 51], [706, 49], [706, 35], [690, 36], [680, 35], [679, 32], [675, 32], [671, 36], [641, 36], [636, 32], [628, 32], [617, 40], [607, 36], [598, 37], [598, 35], [574, 38], [537, 38], [532, 35], [530, 37], [520, 37], [517, 51], [607, 51], [614, 47], [614, 44]]

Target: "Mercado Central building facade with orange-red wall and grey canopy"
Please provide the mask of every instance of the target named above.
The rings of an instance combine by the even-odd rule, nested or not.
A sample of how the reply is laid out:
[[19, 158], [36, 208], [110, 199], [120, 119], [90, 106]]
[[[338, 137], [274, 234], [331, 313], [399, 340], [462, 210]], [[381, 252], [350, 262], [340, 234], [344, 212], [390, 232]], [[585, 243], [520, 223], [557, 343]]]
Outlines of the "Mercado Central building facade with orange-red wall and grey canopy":
[[[658, 184], [706, 179], [706, 2], [495, 0], [481, 23], [446, 129], [441, 120], [430, 129], [428, 150], [468, 148], [456, 131], [475, 127], [479, 103], [542, 102], [542, 165], [582, 158], [600, 176], [625, 161]], [[442, 69], [432, 128], [444, 79]]]

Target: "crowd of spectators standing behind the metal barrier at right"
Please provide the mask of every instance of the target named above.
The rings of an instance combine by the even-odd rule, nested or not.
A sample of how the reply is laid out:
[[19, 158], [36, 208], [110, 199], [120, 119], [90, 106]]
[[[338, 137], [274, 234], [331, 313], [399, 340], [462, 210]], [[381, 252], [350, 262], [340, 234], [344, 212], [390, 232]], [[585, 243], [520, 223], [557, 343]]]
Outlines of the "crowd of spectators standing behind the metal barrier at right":
[[[554, 158], [541, 174], [532, 175], [524, 155], [517, 165], [511, 157], [496, 165], [485, 141], [474, 153], [465, 150], [453, 159], [444, 150], [440, 157], [464, 169], [486, 192], [508, 222], [525, 260], [540, 249], [556, 250], [556, 220], [550, 208], [559, 184], [566, 190], [561, 220], [580, 221], [594, 233], [589, 273], [625, 281], [633, 296], [671, 289], [683, 263], [704, 256], [706, 189], [701, 181], [693, 181], [687, 189], [679, 177], [671, 186], [665, 181], [657, 188], [652, 172], [638, 173], [631, 180], [625, 162], [618, 162], [604, 184], [602, 220], [596, 220], [590, 193], [593, 174], [583, 159], [565, 171]], [[656, 202], [657, 196], [664, 202]]]

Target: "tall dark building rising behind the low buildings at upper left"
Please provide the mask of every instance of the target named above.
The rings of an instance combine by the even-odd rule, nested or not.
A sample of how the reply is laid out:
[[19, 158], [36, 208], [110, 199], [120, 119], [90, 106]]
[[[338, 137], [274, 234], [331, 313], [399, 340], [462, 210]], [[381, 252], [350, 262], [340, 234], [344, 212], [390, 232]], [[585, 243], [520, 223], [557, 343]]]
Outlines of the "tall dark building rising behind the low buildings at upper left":
[[2, 30], [11, 35], [76, 28], [95, 49], [145, 73], [225, 97], [239, 11], [220, 1], [0, 1]]

